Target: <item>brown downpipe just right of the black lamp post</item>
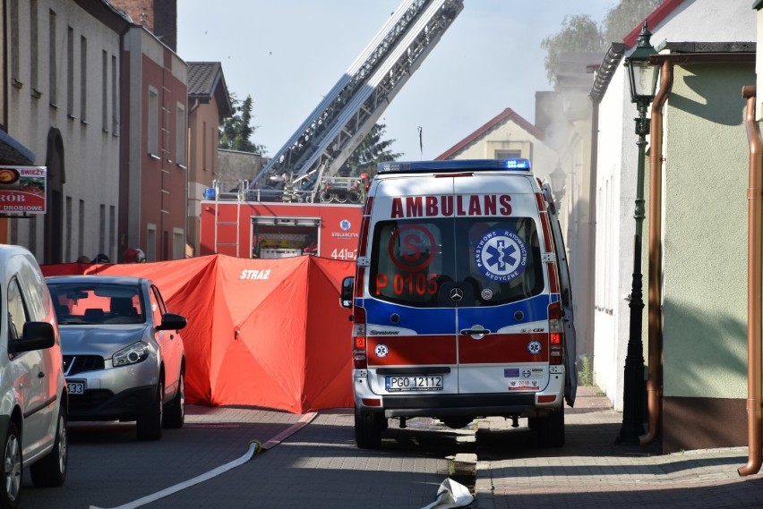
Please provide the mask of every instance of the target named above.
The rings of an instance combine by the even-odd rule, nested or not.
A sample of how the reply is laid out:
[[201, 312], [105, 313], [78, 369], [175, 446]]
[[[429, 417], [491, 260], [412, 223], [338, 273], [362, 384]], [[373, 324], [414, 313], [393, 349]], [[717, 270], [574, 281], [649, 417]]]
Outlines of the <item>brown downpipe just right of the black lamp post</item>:
[[652, 103], [652, 126], [649, 139], [648, 428], [647, 433], [639, 437], [641, 445], [654, 442], [660, 426], [660, 395], [663, 386], [661, 275], [663, 253], [663, 106], [671, 89], [673, 89], [673, 64], [664, 62], [660, 70], [660, 89]]

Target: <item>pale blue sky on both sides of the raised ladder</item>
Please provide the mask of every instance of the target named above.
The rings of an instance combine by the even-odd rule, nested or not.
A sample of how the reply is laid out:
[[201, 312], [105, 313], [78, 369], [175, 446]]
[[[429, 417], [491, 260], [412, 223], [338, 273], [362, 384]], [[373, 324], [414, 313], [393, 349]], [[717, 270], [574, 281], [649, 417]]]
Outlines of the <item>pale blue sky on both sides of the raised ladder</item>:
[[[618, 0], [464, 0], [440, 42], [384, 110], [402, 160], [433, 159], [510, 107], [535, 123], [551, 90], [541, 41], [565, 16], [601, 24]], [[253, 142], [274, 156], [401, 0], [178, 0], [177, 54], [220, 62], [228, 92], [253, 99]], [[421, 144], [419, 140], [421, 128]]]

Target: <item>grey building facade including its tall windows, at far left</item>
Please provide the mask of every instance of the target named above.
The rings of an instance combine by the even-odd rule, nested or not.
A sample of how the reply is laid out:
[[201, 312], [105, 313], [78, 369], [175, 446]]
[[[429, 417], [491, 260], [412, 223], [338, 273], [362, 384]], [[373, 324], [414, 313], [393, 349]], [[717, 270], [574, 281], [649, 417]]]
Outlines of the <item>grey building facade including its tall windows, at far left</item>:
[[6, 129], [47, 166], [47, 213], [5, 219], [4, 242], [45, 263], [115, 257], [129, 21], [100, 1], [4, 0], [4, 13]]

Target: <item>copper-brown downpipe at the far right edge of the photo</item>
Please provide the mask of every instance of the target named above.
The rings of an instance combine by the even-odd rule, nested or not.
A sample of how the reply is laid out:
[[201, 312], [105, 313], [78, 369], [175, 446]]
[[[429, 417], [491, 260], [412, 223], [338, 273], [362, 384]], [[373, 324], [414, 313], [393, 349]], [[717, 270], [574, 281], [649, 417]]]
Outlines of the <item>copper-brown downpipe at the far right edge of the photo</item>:
[[747, 190], [747, 436], [749, 460], [737, 469], [741, 476], [758, 473], [761, 464], [761, 247], [763, 220], [761, 220], [761, 189], [763, 189], [763, 141], [755, 120], [755, 87], [742, 88], [747, 99], [745, 126], [750, 143], [750, 184]]

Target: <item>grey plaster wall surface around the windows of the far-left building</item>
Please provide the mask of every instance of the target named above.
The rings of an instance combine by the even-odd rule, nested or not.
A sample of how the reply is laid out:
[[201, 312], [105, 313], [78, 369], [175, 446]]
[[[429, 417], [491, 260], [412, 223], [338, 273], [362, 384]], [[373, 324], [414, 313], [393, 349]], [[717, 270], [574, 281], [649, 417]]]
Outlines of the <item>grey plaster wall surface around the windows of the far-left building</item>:
[[[18, 36], [8, 30], [9, 41], [18, 40], [19, 72], [18, 83], [13, 86], [11, 62], [6, 59], [8, 89], [8, 133], [30, 148], [36, 159], [35, 165], [45, 165], [47, 157], [47, 135], [51, 128], [61, 131], [64, 143], [64, 214], [67, 199], [72, 202], [72, 217], [64, 217], [65, 225], [71, 224], [71, 230], [64, 232], [71, 235], [71, 252], [64, 251], [64, 261], [74, 261], [81, 254], [90, 258], [104, 251], [112, 259], [116, 258], [116, 225], [107, 225], [104, 232], [106, 245], [101, 246], [100, 208], [105, 207], [106, 221], [110, 222], [110, 209], [118, 210], [119, 190], [119, 132], [112, 129], [112, 116], [119, 118], [118, 100], [112, 100], [112, 79], [119, 76], [119, 35], [103, 23], [86, 13], [73, 0], [37, 0], [38, 9], [38, 81], [34, 93], [31, 83], [31, 65], [35, 58], [30, 55], [30, 0], [9, 2], [9, 9], [18, 6]], [[51, 105], [50, 81], [50, 13], [56, 13], [56, 105]], [[9, 16], [10, 18], [10, 16]], [[69, 28], [73, 29], [73, 82], [69, 83], [68, 65]], [[9, 27], [10, 28], [10, 27]], [[87, 59], [85, 72], [86, 115], [81, 118], [82, 72], [81, 38], [86, 39]], [[13, 44], [13, 43], [9, 43]], [[107, 84], [103, 83], [103, 53], [107, 55]], [[117, 69], [112, 72], [116, 57]], [[68, 92], [73, 87], [73, 115], [68, 115]], [[107, 94], [106, 126], [103, 124], [103, 95]], [[112, 111], [116, 104], [117, 111]], [[106, 128], [106, 129], [105, 129]], [[81, 210], [80, 202], [84, 209]], [[80, 217], [83, 228], [79, 229]], [[34, 248], [38, 259], [42, 257], [43, 226], [42, 215], [34, 219], [11, 220], [12, 236], [17, 242]], [[13, 233], [13, 230], [16, 233]], [[83, 246], [79, 252], [79, 245]], [[63, 247], [62, 247], [63, 249]]]

